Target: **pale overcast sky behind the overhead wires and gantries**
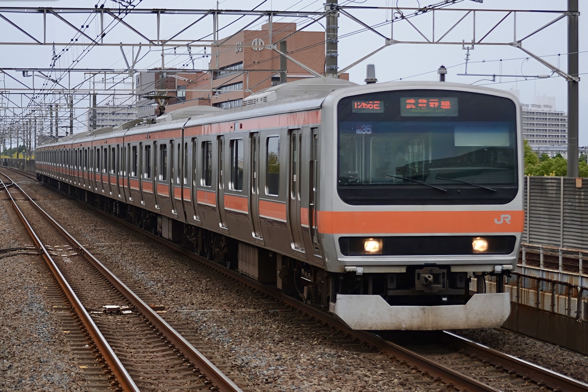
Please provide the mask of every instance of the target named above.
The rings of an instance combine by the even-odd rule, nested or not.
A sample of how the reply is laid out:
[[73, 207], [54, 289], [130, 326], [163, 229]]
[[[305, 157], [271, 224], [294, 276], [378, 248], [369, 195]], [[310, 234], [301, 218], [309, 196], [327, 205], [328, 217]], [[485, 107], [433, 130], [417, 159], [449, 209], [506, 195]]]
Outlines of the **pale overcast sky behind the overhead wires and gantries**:
[[[121, 0], [121, 2], [124, 2]], [[218, 7], [220, 9], [253, 9], [259, 5], [260, 10], [273, 9], [275, 11], [320, 11], [323, 9], [325, 0], [220, 0]], [[420, 7], [429, 4], [437, 4], [439, 1], [427, 0], [355, 0], [353, 2], [346, 0], [339, 0], [340, 5], [357, 5], [357, 6], [399, 6], [405, 8]], [[138, 1], [135, 0], [134, 4]], [[580, 0], [580, 146], [588, 145], [588, 110], [582, 109], [588, 102], [588, 44], [584, 37], [588, 36], [588, 23], [585, 18], [588, 18], [588, 1]], [[6, 1], [0, 0], [0, 7], [10, 6], [27, 6], [37, 7], [46, 6], [53, 8], [61, 7], [79, 7], [79, 8], [93, 8], [96, 4], [105, 4], [105, 7], [116, 8], [119, 3], [113, 0], [26, 0], [26, 1]], [[173, 9], [211, 9], [216, 8], [216, 0], [173, 0], [162, 2], [161, 0], [143, 0], [138, 4], [137, 8], [173, 8]], [[515, 8], [513, 8], [515, 7]], [[445, 9], [494, 9], [494, 10], [559, 10], [564, 11], [567, 8], [567, 0], [484, 0], [483, 4], [477, 4], [473, 1], [462, 1], [451, 5]], [[390, 21], [397, 14], [393, 15], [385, 10], [372, 11], [350, 11], [360, 21], [370, 26], [384, 24]], [[447, 31], [453, 24], [455, 24], [465, 13], [464, 12], [436, 12], [435, 13], [435, 30], [436, 37], [439, 38], [439, 33]], [[500, 19], [506, 14], [495, 12], [480, 12], [476, 15], [476, 38], [480, 38], [489, 29], [492, 28]], [[516, 16], [516, 38], [520, 39], [524, 36], [536, 31], [550, 21], [557, 18], [559, 14], [546, 14], [542, 12], [533, 13], [519, 13]], [[18, 22], [19, 16], [14, 16], [14, 21]], [[189, 24], [189, 18], [195, 19], [195, 16], [178, 15], [173, 16], [177, 19], [165, 19], [162, 22], [162, 31], [173, 34], [176, 31], [174, 28], [175, 20], [178, 25], [186, 26]], [[237, 17], [227, 17], [222, 19], [221, 26], [228, 24]], [[30, 16], [22, 23], [31, 23]], [[228, 28], [223, 29], [219, 36], [229, 35], [235, 28], [243, 28], [252, 21], [252, 17], [243, 18], [235, 22]], [[433, 25], [432, 13], [418, 15], [409, 19], [410, 22], [416, 26], [419, 31], [423, 32], [427, 37], [430, 37], [431, 26]], [[41, 21], [41, 19], [39, 19]], [[129, 15], [125, 18], [129, 24], [133, 26], [141, 26], [143, 31], [149, 31], [152, 26], [155, 26], [155, 19], [149, 15]], [[308, 22], [308, 19], [274, 19], [275, 22], [298, 22], [299, 28]], [[258, 29], [259, 26], [266, 21], [259, 21], [248, 29]], [[35, 22], [37, 23], [37, 22]], [[83, 21], [82, 21], [83, 23]], [[39, 22], [40, 24], [40, 22]], [[313, 31], [320, 31], [325, 25], [325, 19], [320, 21], [320, 24], [314, 24], [309, 29]], [[401, 41], [416, 41], [422, 40], [422, 36], [407, 24], [406, 21], [398, 22], [394, 25], [394, 38]], [[472, 38], [472, 19], [466, 18], [447, 36], [451, 41], [466, 42]], [[69, 38], [74, 38], [75, 32], [72, 29], [66, 28], [64, 24], [59, 24], [59, 31], [53, 31], [51, 34], [55, 35], [56, 41], [69, 41]], [[380, 46], [384, 45], [382, 36], [376, 33], [364, 31], [362, 26], [353, 22], [346, 16], [339, 18], [339, 57], [338, 65], [342, 69], [349, 64], [362, 58], [368, 53], [374, 51]], [[27, 31], [34, 31], [35, 26], [26, 26]], [[0, 31], [2, 34], [14, 34], [18, 37], [19, 33], [12, 26], [6, 25], [6, 22], [0, 19]], [[92, 35], [95, 28], [88, 30], [88, 35]], [[385, 25], [378, 28], [385, 36], [390, 36], [390, 25]], [[209, 22], [200, 23], [195, 28], [191, 29], [186, 34], [193, 34], [193, 39], [201, 39], [204, 36], [212, 33], [212, 24]], [[151, 36], [153, 34], [151, 33]], [[66, 39], [67, 37], [67, 39]], [[109, 32], [109, 38], [112, 42], [127, 42], [134, 43], [145, 41], [128, 33], [128, 29], [122, 30], [115, 28]], [[212, 38], [212, 37], [211, 37]], [[5, 38], [3, 38], [4, 41]], [[18, 38], [22, 39], [22, 38]], [[51, 36], [48, 36], [48, 41], [51, 41]], [[505, 19], [505, 22], [500, 24], [492, 33], [490, 33], [485, 42], [510, 42], [513, 41], [513, 16]], [[567, 22], [565, 19], [558, 21], [549, 26], [544, 31], [533, 35], [531, 38], [523, 41], [523, 47], [534, 55], [540, 56], [544, 61], [549, 62], [553, 66], [567, 72]], [[56, 48], [56, 52], [61, 53], [63, 48]], [[135, 49], [136, 51], [136, 49]], [[208, 53], [210, 48], [207, 49]], [[131, 58], [133, 50], [126, 48], [128, 58]], [[136, 53], [136, 52], [135, 52]], [[168, 51], [171, 53], [171, 51]], [[176, 53], [186, 53], [185, 48], [178, 49]], [[58, 68], [68, 68], [72, 66], [72, 62], [81, 58], [75, 67], [76, 68], [125, 68], [121, 51], [119, 48], [93, 48], [88, 55], [81, 57], [83, 48], [71, 48], [68, 52], [63, 52], [59, 61], [56, 63]], [[194, 67], [196, 69], [208, 68], [208, 58], [202, 57], [201, 48], [193, 48], [192, 56], [194, 59]], [[466, 68], [466, 50], [462, 45], [415, 45], [415, 44], [399, 44], [387, 46], [382, 51], [360, 62], [358, 65], [351, 68], [348, 72], [350, 80], [356, 83], [363, 83], [365, 79], [365, 69], [367, 64], [374, 64], [376, 68], [376, 78], [378, 82], [397, 81], [397, 80], [437, 80], [437, 68], [440, 65], [447, 67], [446, 80], [451, 82], [485, 85], [498, 89], [516, 90], [519, 91], [520, 100], [523, 103], [533, 103], [536, 96], [554, 96], [556, 98], [556, 109], [567, 111], [567, 82], [561, 76], [557, 76], [549, 68], [542, 63], [536, 61], [527, 53], [518, 48], [509, 45], [500, 46], [484, 46], [476, 45], [475, 48], [469, 51], [469, 60]], [[48, 68], [51, 64], [51, 46], [0, 46], [0, 67], [1, 68]], [[169, 67], [181, 68], [185, 66], [188, 69], [192, 68], [192, 63], [189, 61], [187, 55], [166, 55], [165, 65]], [[153, 68], [161, 66], [161, 49], [152, 48], [151, 52], [146, 48], [141, 51], [141, 62], [136, 68]], [[458, 74], [467, 73], [470, 75], [460, 76]], [[471, 76], [471, 74], [487, 75], [487, 76]], [[492, 75], [496, 75], [493, 78]], [[500, 76], [500, 75], [518, 75]], [[542, 78], [537, 79], [534, 76], [542, 75]], [[22, 81], [28, 86], [31, 86], [31, 78], [22, 78], [19, 73], [13, 72], [11, 76]], [[83, 78], [83, 74], [72, 73], [72, 79]], [[494, 80], [493, 80], [494, 79]], [[42, 79], [35, 78], [35, 86], [40, 86]], [[69, 82], [69, 81], [68, 81]], [[73, 81], [75, 84], [75, 80]], [[65, 83], [65, 82], [64, 82]], [[18, 86], [11, 78], [0, 74], [0, 88], [10, 90]], [[12, 96], [14, 98], [14, 95]], [[2, 104], [6, 103], [1, 102]], [[26, 104], [25, 99], [25, 104]]]

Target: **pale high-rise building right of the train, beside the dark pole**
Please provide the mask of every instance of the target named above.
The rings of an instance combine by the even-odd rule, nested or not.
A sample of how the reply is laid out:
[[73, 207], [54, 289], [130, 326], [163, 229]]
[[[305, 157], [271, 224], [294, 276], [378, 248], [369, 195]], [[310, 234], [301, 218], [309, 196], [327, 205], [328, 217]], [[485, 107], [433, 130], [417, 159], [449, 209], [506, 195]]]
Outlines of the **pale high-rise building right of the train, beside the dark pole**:
[[522, 106], [523, 139], [533, 149], [567, 146], [567, 114], [555, 110], [554, 97], [536, 97]]

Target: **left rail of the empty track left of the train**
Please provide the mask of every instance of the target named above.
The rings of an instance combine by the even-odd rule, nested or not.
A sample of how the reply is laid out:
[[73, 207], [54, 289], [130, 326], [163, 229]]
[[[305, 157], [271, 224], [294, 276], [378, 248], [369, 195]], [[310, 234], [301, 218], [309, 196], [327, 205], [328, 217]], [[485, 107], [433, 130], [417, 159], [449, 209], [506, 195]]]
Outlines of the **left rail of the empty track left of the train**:
[[[12, 182], [11, 186], [15, 186], [16, 188], [19, 189], [20, 192], [22, 192], [23, 195], [25, 195], [27, 202], [29, 202], [29, 203], [31, 203], [31, 205], [35, 206], [36, 209], [41, 210], [41, 207], [36, 205], [36, 203], [31, 199], [31, 197], [29, 197], [24, 192], [24, 190], [21, 189], [21, 187], [16, 185], [16, 183], [14, 183], [14, 181], [12, 181], [12, 179], [10, 179], [10, 177], [6, 176], [5, 174], [4, 174], [4, 176]], [[31, 224], [26, 219], [24, 213], [18, 207], [18, 205], [16, 205], [16, 201], [14, 200], [14, 197], [12, 197], [12, 194], [9, 191], [8, 187], [4, 186], [4, 181], [2, 181], [2, 179], [0, 179], [0, 184], [4, 187], [4, 189], [6, 190], [6, 193], [10, 197], [12, 206], [14, 207], [16, 214], [18, 215], [19, 219], [21, 219], [22, 223], [24, 224], [26, 231], [29, 233], [29, 236], [31, 236], [32, 241], [35, 243], [35, 246], [38, 247], [38, 249], [42, 250], [43, 253], [41, 256], [43, 257], [43, 259], [45, 259], [45, 262], [47, 263], [49, 269], [51, 269], [51, 272], [54, 274], [55, 279], [57, 279], [59, 286], [61, 286], [62, 289], [64, 290], [66, 297], [68, 297], [68, 300], [71, 303], [72, 307], [74, 307], [76, 313], [78, 314], [78, 316], [82, 320], [82, 323], [83, 323], [84, 327], [86, 328], [86, 330], [88, 330], [88, 333], [92, 337], [93, 342], [96, 344], [96, 346], [100, 350], [100, 353], [102, 354], [102, 356], [106, 360], [106, 363], [108, 363], [109, 369], [112, 371], [112, 373], [116, 377], [116, 381], [118, 382], [119, 386], [122, 388], [123, 391], [139, 392], [139, 388], [136, 386], [132, 377], [130, 376], [128, 371], [126, 371], [125, 367], [123, 366], [121, 361], [118, 359], [115, 352], [112, 350], [112, 347], [108, 344], [108, 341], [106, 341], [106, 338], [102, 335], [101, 331], [98, 329], [98, 326], [96, 326], [96, 324], [92, 320], [92, 316], [90, 316], [88, 311], [86, 311], [85, 307], [82, 305], [78, 296], [76, 296], [76, 294], [74, 293], [74, 290], [72, 290], [71, 286], [69, 286], [69, 283], [65, 280], [65, 277], [63, 276], [63, 274], [61, 273], [61, 271], [59, 270], [59, 268], [55, 264], [54, 260], [52, 259], [51, 255], [49, 254], [49, 251], [46, 249], [44, 244], [41, 242], [41, 240], [39, 239], [39, 237], [35, 233], [35, 230], [32, 228]], [[42, 213], [45, 214], [44, 211]], [[45, 214], [45, 216], [46, 216], [46, 214]], [[51, 219], [51, 221], [52, 221], [52, 223], [55, 223], [54, 220]]]

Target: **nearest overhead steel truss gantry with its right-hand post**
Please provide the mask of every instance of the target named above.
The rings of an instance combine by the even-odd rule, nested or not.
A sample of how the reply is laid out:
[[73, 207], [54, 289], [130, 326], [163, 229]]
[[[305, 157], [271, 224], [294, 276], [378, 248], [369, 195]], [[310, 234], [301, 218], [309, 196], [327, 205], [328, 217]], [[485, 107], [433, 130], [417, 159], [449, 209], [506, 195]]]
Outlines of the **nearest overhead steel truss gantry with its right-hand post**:
[[[475, 2], [482, 2], [481, 0], [472, 0]], [[84, 46], [92, 48], [93, 50], [101, 50], [99, 48], [108, 48], [118, 46], [119, 48], [125, 46], [137, 46], [138, 48], [158, 48], [162, 55], [162, 68], [165, 68], [165, 50], [171, 48], [215, 48], [216, 51], [236, 48], [235, 43], [229, 43], [229, 39], [220, 39], [219, 31], [225, 26], [220, 26], [220, 16], [249, 16], [247, 22], [240, 29], [245, 29], [248, 26], [267, 19], [269, 22], [270, 33], [272, 31], [272, 21], [275, 18], [291, 18], [303, 21], [309, 21], [303, 28], [316, 24], [320, 19], [325, 19], [325, 71], [322, 75], [310, 69], [300, 61], [292, 58], [290, 53], [285, 53], [285, 49], [280, 50], [278, 43], [269, 42], [268, 45], [261, 49], [269, 49], [276, 53], [276, 56], [287, 58], [289, 61], [296, 63], [302, 68], [306, 69], [315, 76], [329, 76], [338, 77], [342, 73], [348, 72], [353, 66], [373, 56], [375, 53], [386, 49], [388, 46], [399, 44], [425, 44], [425, 45], [467, 45], [471, 48], [479, 45], [502, 45], [518, 48], [526, 55], [532, 57], [537, 62], [546, 66], [552, 73], [557, 74], [567, 81], [568, 86], [568, 175], [577, 176], [577, 148], [578, 148], [578, 94], [579, 94], [579, 69], [578, 69], [578, 20], [579, 9], [578, 0], [567, 0], [567, 10], [565, 11], [537, 11], [537, 10], [515, 10], [515, 9], [466, 9], [453, 8], [454, 3], [459, 0], [439, 0], [435, 4], [426, 5], [416, 8], [403, 8], [397, 6], [369, 6], [364, 4], [346, 3], [346, 5], [339, 5], [337, 0], [326, 0], [324, 7], [320, 11], [261, 11], [261, 10], [222, 10], [222, 9], [139, 9], [128, 8], [124, 12], [119, 9], [110, 8], [19, 8], [19, 7], [0, 7], [0, 28], [4, 31], [14, 31], [16, 33], [5, 33], [0, 35], [0, 45], [21, 45], [21, 46], [39, 46], [39, 45], [55, 45], [57, 47], [72, 48], [75, 46]], [[382, 12], [390, 12], [393, 17], [385, 22], [374, 23], [377, 18], [372, 16], [381, 15]], [[517, 26], [516, 21], [520, 15], [537, 15], [540, 12], [542, 15], [553, 16], [551, 21], [528, 33], [522, 33], [520, 38], [520, 25]], [[439, 18], [445, 17], [448, 13], [453, 13], [452, 18], [457, 21], [449, 28], [443, 27], [443, 24], [438, 23]], [[16, 17], [18, 15], [18, 17]], [[88, 20], [92, 21], [92, 25], [83, 25], [78, 27], [74, 22], [80, 15], [87, 16]], [[133, 22], [126, 18], [126, 15], [141, 16], [141, 23], [137, 23], [138, 19], [133, 19]], [[185, 16], [193, 16], [185, 18]], [[361, 15], [361, 16], [357, 16]], [[426, 19], [424, 15], [429, 15]], [[495, 25], [487, 29], [477, 24], [479, 18], [486, 18], [491, 15], [497, 18]], [[183, 16], [183, 18], [182, 18]], [[420, 24], [416, 24], [414, 18], [419, 18]], [[18, 22], [16, 20], [18, 19]], [[387, 18], [386, 18], [387, 19]], [[491, 18], [487, 18], [491, 19]], [[536, 36], [537, 33], [544, 31], [550, 26], [559, 21], [567, 19], [567, 72], [535, 55], [528, 48], [527, 43], [529, 38]], [[339, 33], [342, 21], [345, 20], [348, 24], [358, 25], [362, 32], [371, 32], [376, 39], [381, 39], [382, 45], [375, 50], [359, 55], [358, 58], [350, 64], [339, 66], [338, 58], [340, 45], [339, 40], [342, 35]], [[165, 23], [166, 21], [173, 21]], [[212, 21], [213, 32], [209, 35], [204, 35], [203, 38], [194, 39], [194, 32], [196, 28], [203, 26], [205, 31], [209, 30]], [[430, 24], [427, 26], [428, 22]], [[61, 27], [59, 25], [61, 24]], [[111, 24], [115, 24], [118, 28], [116, 34], [111, 33]], [[469, 25], [469, 26], [468, 26]], [[425, 27], [419, 27], [425, 26]], [[512, 26], [512, 39], [497, 39], [497, 34], [492, 34], [499, 28], [503, 30]], [[57, 27], [57, 28], [56, 28]], [[89, 31], [91, 28], [98, 33], [92, 35]], [[389, 32], [385, 33], [385, 29], [389, 27]], [[465, 28], [464, 28], [465, 27]], [[460, 36], [460, 39], [455, 39], [458, 34], [458, 28], [462, 28], [460, 33], [466, 36]], [[517, 31], [517, 28], [519, 31]], [[76, 39], [71, 41], [64, 41], [63, 39], [53, 39], [55, 30], [71, 31], [75, 34]], [[413, 36], [410, 40], [403, 39], [407, 35], [403, 35], [403, 31], [412, 31]], [[463, 33], [469, 31], [470, 33]], [[401, 32], [399, 34], [399, 32]], [[201, 36], [199, 33], [198, 36]], [[212, 35], [212, 39], [206, 39]], [[351, 35], [351, 33], [349, 34]], [[125, 42], [121, 42], [120, 37], [125, 36]], [[168, 37], [163, 39], [162, 37]], [[77, 39], [79, 38], [79, 39]], [[500, 37], [502, 38], [502, 37]], [[55, 42], [54, 42], [55, 41]], [[373, 40], [372, 40], [373, 41]], [[254, 43], [240, 43], [243, 47], [253, 47]], [[192, 53], [191, 53], [192, 55]], [[128, 73], [139, 71], [136, 68], [137, 57], [133, 59], [132, 65], [127, 62], [127, 69], [121, 70], [121, 73]], [[218, 59], [218, 56], [217, 56]], [[126, 58], [125, 58], [126, 61]], [[52, 64], [54, 65], [54, 64]], [[65, 72], [75, 72], [77, 67], [72, 66]], [[56, 71], [55, 68], [51, 68]], [[218, 64], [213, 65], [213, 69], [207, 71], [215, 71], [218, 69]], [[22, 93], [26, 96], [29, 94], [52, 93], [55, 92], [56, 86], [52, 87], [52, 91], [44, 91], [42, 89], [33, 89], [22, 83], [14, 76], [9, 75], [11, 72], [17, 71], [18, 68], [2, 68], [0, 72], [4, 72], [9, 78], [14, 79], [19, 83], [14, 90], [15, 93]], [[34, 72], [35, 69], [30, 69]], [[39, 69], [39, 72], [41, 70]], [[86, 70], [87, 71], [87, 70]], [[110, 69], [109, 72], [116, 72], [118, 70]], [[279, 69], [274, 70], [276, 73], [282, 72]], [[18, 72], [18, 71], [17, 71]], [[185, 72], [185, 71], [181, 71]], [[32, 78], [34, 79], [34, 78]], [[91, 92], [91, 88], [85, 88], [83, 85], [76, 86], [75, 92], [68, 91], [71, 86], [67, 86], [59, 93], [63, 96], [69, 97], [75, 92]], [[21, 89], [21, 91], [18, 91]], [[26, 91], [29, 89], [29, 91]], [[120, 89], [117, 90], [119, 92]], [[0, 92], [1, 93], [1, 92]], [[71, 99], [66, 102], [64, 108], [69, 106]], [[92, 106], [92, 105], [89, 105]], [[13, 109], [16, 110], [16, 109]], [[16, 116], [18, 117], [18, 116]], [[71, 115], [70, 115], [71, 117]], [[70, 126], [73, 127], [70, 120]], [[71, 129], [71, 128], [70, 128]]]

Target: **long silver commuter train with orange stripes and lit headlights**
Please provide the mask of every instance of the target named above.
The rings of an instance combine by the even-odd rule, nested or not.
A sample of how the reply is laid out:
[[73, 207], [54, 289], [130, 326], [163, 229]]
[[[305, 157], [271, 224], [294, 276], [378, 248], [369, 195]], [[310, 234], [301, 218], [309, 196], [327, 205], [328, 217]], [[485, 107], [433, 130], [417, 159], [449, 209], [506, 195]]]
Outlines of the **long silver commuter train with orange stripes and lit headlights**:
[[303, 79], [49, 140], [36, 172], [352, 329], [491, 328], [524, 227], [520, 113], [482, 86]]

